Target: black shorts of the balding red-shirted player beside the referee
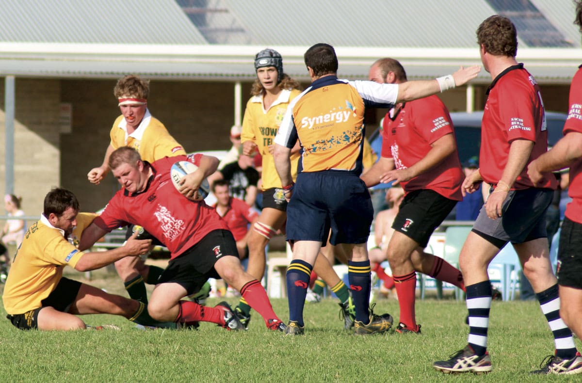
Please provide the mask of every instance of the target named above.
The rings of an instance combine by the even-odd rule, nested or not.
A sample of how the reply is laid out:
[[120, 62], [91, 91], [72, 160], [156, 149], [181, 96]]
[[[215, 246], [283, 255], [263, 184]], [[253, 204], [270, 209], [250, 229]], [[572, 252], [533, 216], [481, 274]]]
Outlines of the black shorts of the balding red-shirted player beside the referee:
[[432, 232], [442, 224], [456, 204], [457, 201], [443, 197], [434, 190], [411, 191], [400, 204], [392, 229], [413, 239], [420, 246], [427, 247]]

